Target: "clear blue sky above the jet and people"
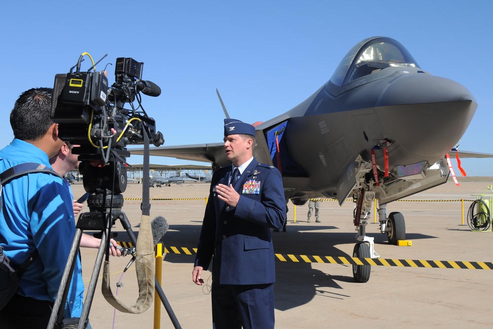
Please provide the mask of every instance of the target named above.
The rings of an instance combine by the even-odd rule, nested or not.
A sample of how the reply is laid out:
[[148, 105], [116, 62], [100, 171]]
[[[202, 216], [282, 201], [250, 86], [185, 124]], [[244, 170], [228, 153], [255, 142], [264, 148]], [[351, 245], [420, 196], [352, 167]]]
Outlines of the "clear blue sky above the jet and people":
[[[97, 69], [113, 64], [110, 83], [117, 57], [145, 63], [143, 78], [162, 94], [142, 105], [173, 146], [222, 141], [216, 88], [232, 117], [267, 121], [312, 95], [354, 44], [386, 36], [423, 70], [472, 92], [479, 106], [459, 150], [493, 153], [493, 1], [8, 1], [2, 13], [0, 147], [13, 138], [8, 115], [19, 94], [52, 87], [83, 52], [95, 61], [108, 54]], [[462, 167], [493, 176], [493, 159]]]

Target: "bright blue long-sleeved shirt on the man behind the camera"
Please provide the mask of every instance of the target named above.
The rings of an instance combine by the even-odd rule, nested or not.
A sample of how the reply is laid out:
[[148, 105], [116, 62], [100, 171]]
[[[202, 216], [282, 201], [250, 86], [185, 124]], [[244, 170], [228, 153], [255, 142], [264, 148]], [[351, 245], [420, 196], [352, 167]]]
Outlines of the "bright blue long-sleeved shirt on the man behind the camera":
[[[48, 155], [30, 143], [14, 139], [0, 150], [0, 172], [24, 162], [51, 168]], [[27, 174], [3, 186], [1, 201], [0, 245], [5, 255], [16, 267], [35, 249], [39, 252], [22, 276], [18, 293], [55, 301], [75, 235], [67, 185], [54, 175]], [[84, 294], [80, 259], [76, 258], [66, 305], [71, 317], [80, 317]]]

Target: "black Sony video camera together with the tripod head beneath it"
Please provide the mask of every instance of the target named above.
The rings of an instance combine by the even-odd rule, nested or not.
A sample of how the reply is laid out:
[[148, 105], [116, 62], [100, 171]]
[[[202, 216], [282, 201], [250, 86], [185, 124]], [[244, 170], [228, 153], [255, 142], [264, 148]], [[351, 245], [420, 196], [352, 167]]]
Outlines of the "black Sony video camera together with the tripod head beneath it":
[[[126, 146], [144, 144], [146, 136], [154, 146], [164, 143], [154, 119], [142, 108], [140, 95], [157, 97], [161, 88], [142, 80], [143, 63], [132, 58], [116, 59], [111, 87], [106, 71], [81, 72], [81, 61], [82, 55], [69, 73], [56, 74], [51, 118], [59, 124], [58, 137], [79, 146], [73, 152], [81, 161], [84, 189], [91, 193], [89, 209], [121, 209], [121, 193], [127, 186], [125, 158], [130, 156]], [[135, 100], [139, 103], [137, 109]], [[125, 104], [131, 109], [125, 109]]]

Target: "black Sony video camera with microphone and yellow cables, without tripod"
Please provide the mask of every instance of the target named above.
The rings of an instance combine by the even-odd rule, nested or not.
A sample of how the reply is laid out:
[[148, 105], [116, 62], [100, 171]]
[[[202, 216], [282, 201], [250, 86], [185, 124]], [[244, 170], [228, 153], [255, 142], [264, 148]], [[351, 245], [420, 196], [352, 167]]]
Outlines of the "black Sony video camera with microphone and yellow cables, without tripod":
[[[93, 65], [81, 72], [81, 61], [82, 55], [69, 73], [56, 74], [51, 108], [51, 118], [59, 123], [59, 138], [80, 145], [79, 160], [101, 158], [106, 163], [110, 150], [129, 156], [125, 146], [143, 144], [144, 134], [154, 146], [162, 145], [163, 134], [156, 131], [154, 119], [143, 110], [140, 95], [157, 97], [161, 88], [142, 80], [143, 63], [117, 58], [115, 83], [108, 87], [106, 71], [91, 72]], [[125, 109], [125, 104], [130, 109]]]

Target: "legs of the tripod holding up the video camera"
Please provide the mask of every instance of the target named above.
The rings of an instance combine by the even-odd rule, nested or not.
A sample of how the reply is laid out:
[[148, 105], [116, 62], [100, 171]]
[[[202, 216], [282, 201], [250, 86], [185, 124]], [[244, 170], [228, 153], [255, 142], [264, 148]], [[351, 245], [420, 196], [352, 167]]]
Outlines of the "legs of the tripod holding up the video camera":
[[[130, 225], [130, 222], [123, 212], [116, 212], [113, 213], [116, 215], [116, 218], [120, 219], [120, 222], [123, 226], [123, 228], [127, 231], [127, 234], [130, 237], [130, 240], [134, 245], [137, 244], [137, 239], [135, 237], [134, 232], [132, 231], [132, 226]], [[107, 213], [107, 216], [104, 216], [105, 213], [100, 213], [100, 212], [91, 212], [91, 213], [83, 213], [79, 216], [79, 219], [77, 220], [77, 225], [75, 229], [75, 236], [72, 242], [72, 246], [70, 248], [70, 254], [69, 258], [67, 260], [67, 265], [65, 267], [62, 280], [60, 282], [60, 288], [57, 293], [57, 297], [55, 299], [55, 304], [53, 305], [53, 310], [51, 312], [50, 316], [50, 321], [48, 323], [48, 329], [60, 329], [60, 328], [86, 328], [87, 323], [88, 323], [88, 318], [89, 318], [89, 311], [91, 309], [91, 304], [93, 301], [94, 297], [94, 292], [96, 290], [96, 284], [98, 281], [98, 276], [99, 272], [101, 269], [101, 264], [103, 263], [103, 258], [105, 256], [105, 252], [108, 247], [108, 233], [109, 233], [109, 227], [111, 226], [109, 223], [111, 220], [106, 219], [105, 217], [111, 216], [110, 213]], [[69, 278], [72, 277], [73, 274], [73, 269], [75, 266], [75, 261], [76, 257], [78, 255], [78, 250], [79, 250], [79, 244], [80, 240], [82, 237], [82, 231], [86, 230], [101, 230], [102, 231], [102, 236], [101, 236], [101, 244], [98, 249], [98, 254], [96, 256], [96, 261], [94, 264], [93, 272], [91, 275], [91, 281], [89, 282], [89, 286], [87, 289], [87, 294], [86, 298], [84, 300], [84, 305], [82, 307], [82, 314], [79, 319], [77, 318], [71, 318], [71, 319], [66, 319], [65, 322], [63, 322], [63, 314], [64, 314], [64, 309], [65, 309], [65, 304], [67, 302], [67, 296], [69, 294], [69, 288], [70, 288], [70, 281]], [[159, 282], [157, 278], [154, 277], [155, 281], [155, 289], [156, 292], [158, 293], [161, 301], [163, 302], [163, 305], [168, 312], [168, 315], [170, 317], [170, 320], [172, 321], [173, 325], [175, 326], [176, 329], [181, 329], [180, 324], [178, 323], [178, 320], [176, 319], [176, 315], [173, 312], [173, 309], [171, 308], [170, 303], [168, 302], [168, 299], [166, 298], [166, 295], [163, 292], [163, 289], [159, 285]], [[63, 290], [62, 290], [63, 288]], [[77, 325], [78, 323], [78, 325]], [[67, 327], [64, 327], [66, 325]]]

